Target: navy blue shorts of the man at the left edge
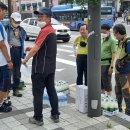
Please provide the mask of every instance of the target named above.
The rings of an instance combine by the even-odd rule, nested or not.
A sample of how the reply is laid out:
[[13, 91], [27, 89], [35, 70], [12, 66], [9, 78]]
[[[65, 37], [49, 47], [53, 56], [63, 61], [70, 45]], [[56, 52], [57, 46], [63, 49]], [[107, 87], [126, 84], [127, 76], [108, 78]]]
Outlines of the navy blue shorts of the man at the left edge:
[[11, 83], [11, 72], [7, 65], [0, 66], [0, 91], [8, 91]]

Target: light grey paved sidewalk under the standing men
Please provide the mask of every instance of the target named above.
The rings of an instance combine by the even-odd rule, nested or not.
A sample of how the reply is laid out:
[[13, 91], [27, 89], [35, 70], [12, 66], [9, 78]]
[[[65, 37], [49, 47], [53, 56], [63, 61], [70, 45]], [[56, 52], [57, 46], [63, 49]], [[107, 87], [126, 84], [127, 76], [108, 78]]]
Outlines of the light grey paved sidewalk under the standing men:
[[[78, 112], [75, 109], [73, 98], [74, 86], [70, 87], [70, 96], [72, 97], [68, 97], [68, 105], [60, 108], [59, 123], [52, 122], [50, 108], [44, 106], [44, 125], [39, 127], [29, 124], [28, 118], [33, 116], [31, 84], [27, 85], [25, 90], [21, 92], [23, 94], [21, 98], [11, 96], [13, 111], [4, 114], [0, 113], [0, 130], [107, 130], [108, 123], [112, 126], [109, 130], [128, 130], [126, 127], [130, 126], [130, 117], [124, 114], [111, 118], [105, 116], [89, 118], [87, 114]], [[125, 117], [125, 119], [120, 116]]]

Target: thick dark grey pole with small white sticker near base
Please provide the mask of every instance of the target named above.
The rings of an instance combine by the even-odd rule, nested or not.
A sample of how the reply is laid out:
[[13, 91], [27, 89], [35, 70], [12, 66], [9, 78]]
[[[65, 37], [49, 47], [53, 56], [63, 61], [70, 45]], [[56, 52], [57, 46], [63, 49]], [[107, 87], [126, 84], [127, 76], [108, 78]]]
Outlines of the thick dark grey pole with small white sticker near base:
[[88, 116], [101, 115], [101, 0], [88, 0]]

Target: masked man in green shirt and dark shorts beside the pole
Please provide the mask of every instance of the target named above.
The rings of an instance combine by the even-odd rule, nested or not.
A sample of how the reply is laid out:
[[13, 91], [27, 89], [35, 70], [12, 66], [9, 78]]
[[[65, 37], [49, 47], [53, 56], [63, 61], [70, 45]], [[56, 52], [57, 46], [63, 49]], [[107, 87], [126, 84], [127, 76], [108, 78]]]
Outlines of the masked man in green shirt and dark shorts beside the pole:
[[116, 52], [116, 40], [111, 36], [110, 26], [101, 26], [101, 90], [111, 96], [111, 77], [113, 73], [113, 61]]

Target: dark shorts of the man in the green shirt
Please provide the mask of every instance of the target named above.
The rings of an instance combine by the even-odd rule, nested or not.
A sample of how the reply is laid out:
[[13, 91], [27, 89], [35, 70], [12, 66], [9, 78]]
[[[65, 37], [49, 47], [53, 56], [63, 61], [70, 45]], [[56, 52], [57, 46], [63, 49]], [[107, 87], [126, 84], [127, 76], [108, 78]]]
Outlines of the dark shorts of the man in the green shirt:
[[108, 74], [110, 65], [101, 66], [101, 89], [107, 92], [112, 91], [111, 75]]

